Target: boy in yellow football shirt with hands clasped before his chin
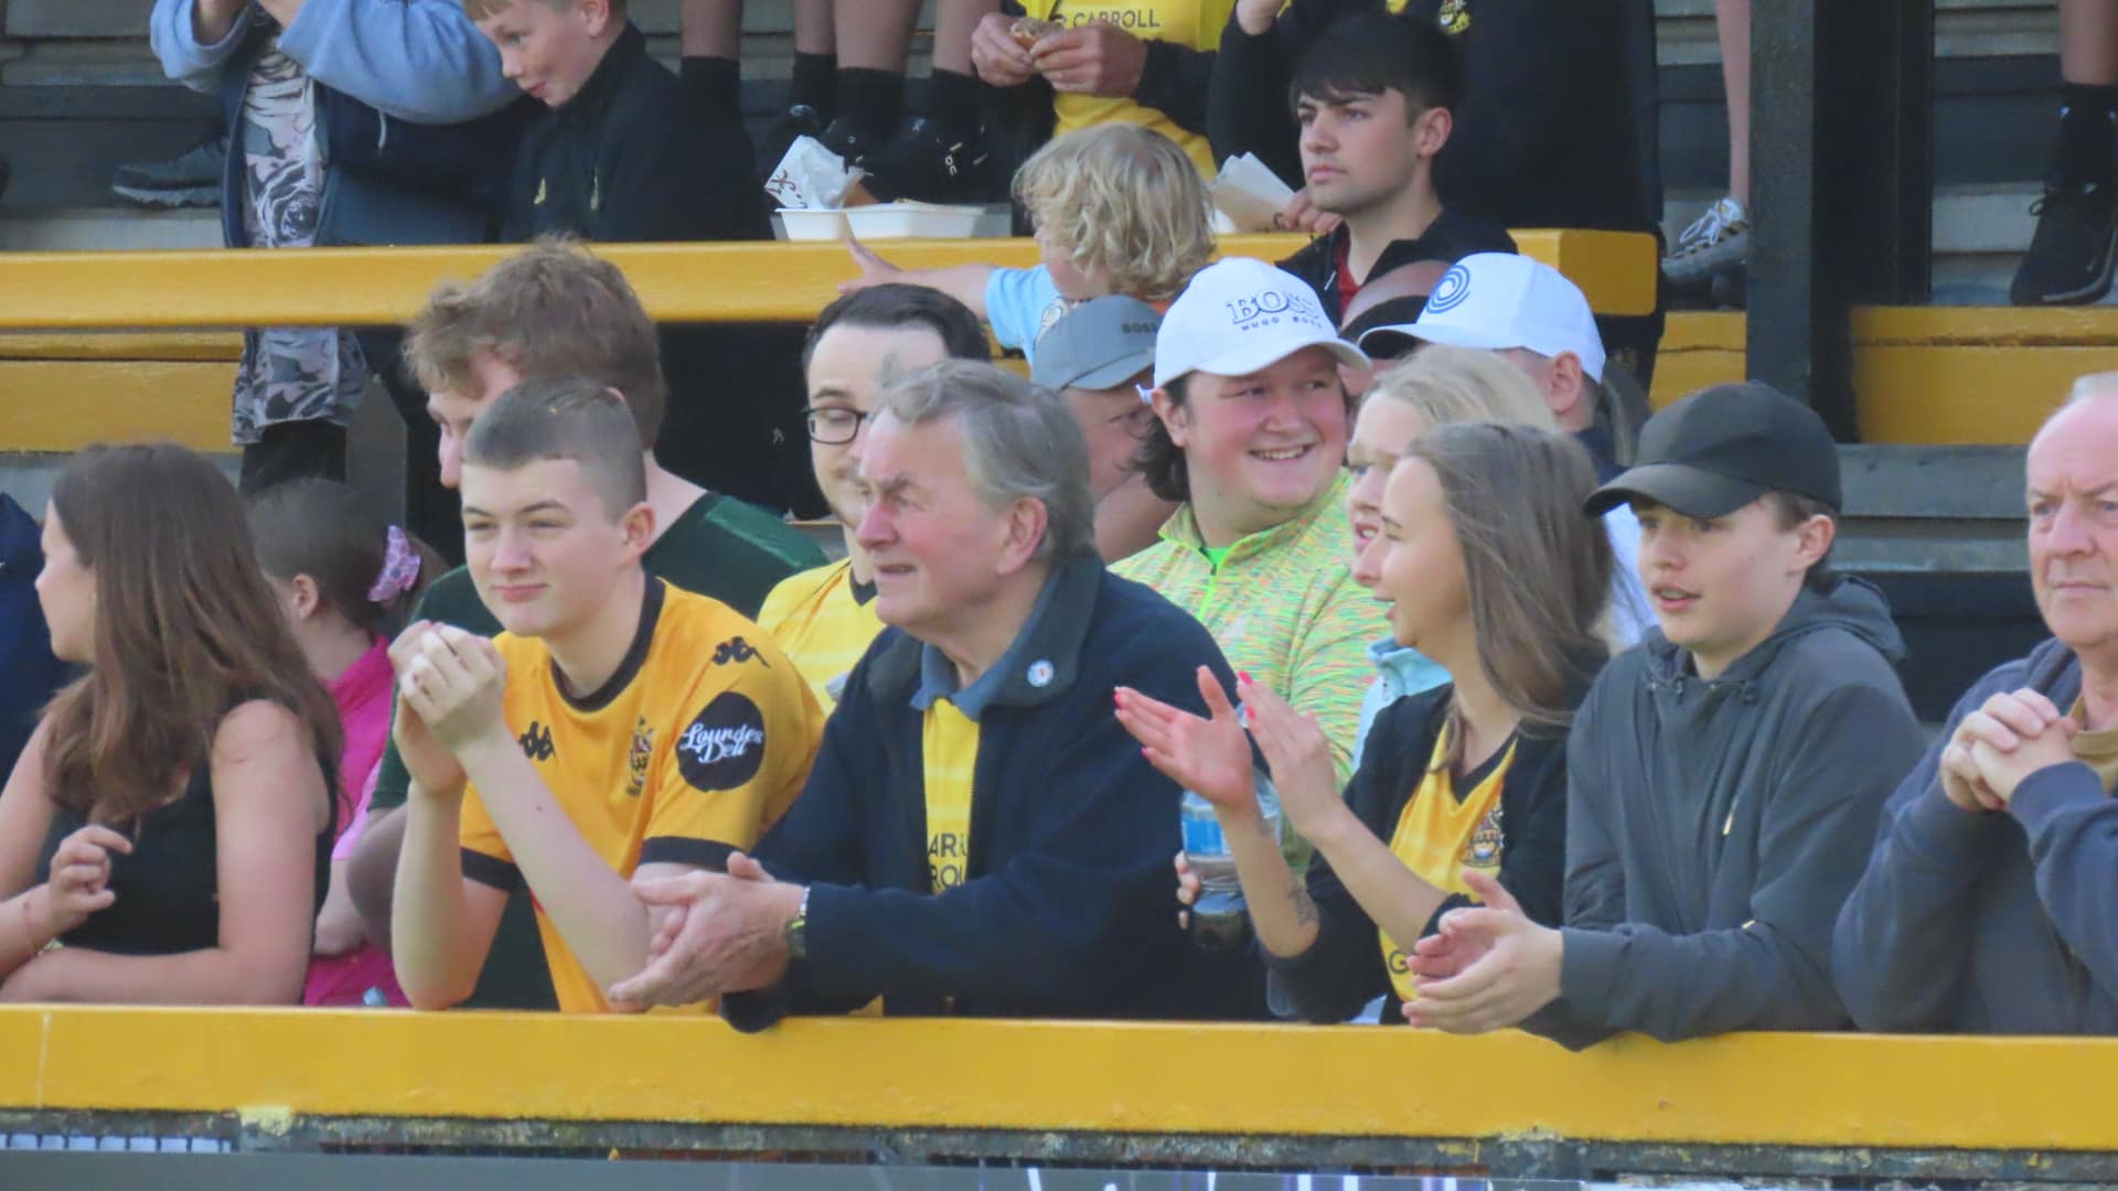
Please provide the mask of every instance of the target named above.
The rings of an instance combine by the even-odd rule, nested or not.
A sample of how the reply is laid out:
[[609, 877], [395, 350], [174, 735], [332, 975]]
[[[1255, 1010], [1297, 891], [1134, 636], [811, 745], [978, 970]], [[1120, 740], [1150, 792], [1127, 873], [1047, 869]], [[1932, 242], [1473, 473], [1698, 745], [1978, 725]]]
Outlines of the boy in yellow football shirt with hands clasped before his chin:
[[413, 774], [398, 979], [421, 1009], [468, 998], [527, 886], [559, 1009], [608, 1011], [663, 918], [627, 882], [756, 843], [801, 793], [822, 712], [752, 621], [640, 566], [654, 509], [614, 392], [521, 384], [464, 456], [470, 572], [508, 632], [421, 621], [390, 648]]

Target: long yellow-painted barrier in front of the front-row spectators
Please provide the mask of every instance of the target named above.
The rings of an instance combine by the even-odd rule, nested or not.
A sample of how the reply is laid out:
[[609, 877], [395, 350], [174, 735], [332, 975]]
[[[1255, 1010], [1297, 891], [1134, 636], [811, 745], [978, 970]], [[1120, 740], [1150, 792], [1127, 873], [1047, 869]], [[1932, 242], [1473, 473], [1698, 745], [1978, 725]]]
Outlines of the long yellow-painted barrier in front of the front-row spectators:
[[2118, 1151], [2118, 1041], [0, 1009], [0, 1110]]

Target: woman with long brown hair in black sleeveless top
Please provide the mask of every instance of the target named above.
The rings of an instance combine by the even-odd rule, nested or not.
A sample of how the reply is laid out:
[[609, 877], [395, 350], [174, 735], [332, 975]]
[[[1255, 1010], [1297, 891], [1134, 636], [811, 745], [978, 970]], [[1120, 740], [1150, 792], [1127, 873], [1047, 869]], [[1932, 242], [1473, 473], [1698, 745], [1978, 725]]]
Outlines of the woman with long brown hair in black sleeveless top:
[[80, 451], [36, 589], [87, 674], [0, 790], [0, 1000], [294, 1005], [339, 718], [235, 487], [174, 445]]

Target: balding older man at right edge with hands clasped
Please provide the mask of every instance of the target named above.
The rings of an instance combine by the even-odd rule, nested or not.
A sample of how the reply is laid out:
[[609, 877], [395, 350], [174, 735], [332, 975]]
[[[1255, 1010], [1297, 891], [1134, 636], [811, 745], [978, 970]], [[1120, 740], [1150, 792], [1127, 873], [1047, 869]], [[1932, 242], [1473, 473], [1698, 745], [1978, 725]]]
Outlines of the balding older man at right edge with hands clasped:
[[1978, 680], [1883, 812], [1832, 947], [1864, 1030], [2118, 1034], [2118, 373], [2027, 470], [2054, 640]]

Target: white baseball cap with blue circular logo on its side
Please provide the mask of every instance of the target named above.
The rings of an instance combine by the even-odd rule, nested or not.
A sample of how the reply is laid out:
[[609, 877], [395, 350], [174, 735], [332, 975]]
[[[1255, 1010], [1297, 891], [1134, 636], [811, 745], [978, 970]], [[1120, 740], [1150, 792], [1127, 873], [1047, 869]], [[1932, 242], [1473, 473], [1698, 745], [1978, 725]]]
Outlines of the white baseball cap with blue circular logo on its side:
[[1411, 335], [1428, 343], [1544, 358], [1574, 352], [1588, 379], [1603, 379], [1603, 337], [1580, 286], [1565, 273], [1514, 252], [1474, 252], [1442, 273], [1415, 322], [1362, 335]]

